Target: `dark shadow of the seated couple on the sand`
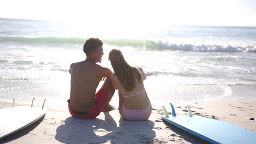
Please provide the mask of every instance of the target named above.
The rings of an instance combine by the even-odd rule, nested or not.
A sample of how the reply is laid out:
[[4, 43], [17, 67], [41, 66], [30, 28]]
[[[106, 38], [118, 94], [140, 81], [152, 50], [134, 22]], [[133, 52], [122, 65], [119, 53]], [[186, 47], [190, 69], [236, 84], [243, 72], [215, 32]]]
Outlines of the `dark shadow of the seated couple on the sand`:
[[[55, 139], [62, 143], [153, 143], [152, 121], [114, 121], [108, 112], [105, 119], [68, 117], [56, 129]], [[119, 127], [118, 127], [119, 125]]]

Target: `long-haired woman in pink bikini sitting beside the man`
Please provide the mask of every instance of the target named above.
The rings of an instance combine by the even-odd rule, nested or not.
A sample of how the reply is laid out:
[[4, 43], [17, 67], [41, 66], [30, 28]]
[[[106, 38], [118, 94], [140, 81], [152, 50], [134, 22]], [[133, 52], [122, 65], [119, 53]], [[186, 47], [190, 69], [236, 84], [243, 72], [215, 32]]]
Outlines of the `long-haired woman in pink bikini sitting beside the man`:
[[119, 89], [119, 113], [130, 121], [147, 120], [152, 106], [144, 88], [147, 78], [142, 68], [129, 65], [120, 50], [109, 52], [108, 59], [114, 69], [111, 75], [113, 87]]

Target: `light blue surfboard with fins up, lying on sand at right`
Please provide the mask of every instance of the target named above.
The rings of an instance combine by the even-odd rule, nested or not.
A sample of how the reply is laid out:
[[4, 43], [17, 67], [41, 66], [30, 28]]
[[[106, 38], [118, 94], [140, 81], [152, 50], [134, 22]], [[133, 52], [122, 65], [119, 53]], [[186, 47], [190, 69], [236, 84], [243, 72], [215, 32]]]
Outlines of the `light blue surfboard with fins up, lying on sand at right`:
[[172, 115], [168, 115], [164, 106], [165, 115], [162, 119], [174, 126], [193, 134], [200, 139], [211, 143], [236, 143], [253, 144], [256, 143], [256, 134], [237, 125], [218, 121], [216, 119], [192, 116], [189, 106], [189, 115], [176, 116], [173, 105]]

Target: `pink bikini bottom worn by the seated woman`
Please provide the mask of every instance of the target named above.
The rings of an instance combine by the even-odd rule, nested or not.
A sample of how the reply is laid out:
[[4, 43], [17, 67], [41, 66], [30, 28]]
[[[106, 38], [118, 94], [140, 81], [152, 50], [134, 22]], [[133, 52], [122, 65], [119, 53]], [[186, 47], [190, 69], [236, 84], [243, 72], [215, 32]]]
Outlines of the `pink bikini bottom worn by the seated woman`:
[[129, 121], [146, 121], [151, 113], [151, 105], [149, 104], [146, 109], [143, 110], [130, 110], [126, 109], [123, 105], [124, 117]]

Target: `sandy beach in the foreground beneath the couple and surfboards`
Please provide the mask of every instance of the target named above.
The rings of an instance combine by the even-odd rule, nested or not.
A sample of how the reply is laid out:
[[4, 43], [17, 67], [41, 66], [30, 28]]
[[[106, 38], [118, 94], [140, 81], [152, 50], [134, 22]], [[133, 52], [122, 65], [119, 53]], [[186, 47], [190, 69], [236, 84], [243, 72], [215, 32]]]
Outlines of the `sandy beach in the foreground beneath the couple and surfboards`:
[[[0, 108], [11, 104], [1, 101]], [[19, 104], [17, 104], [19, 105]], [[168, 104], [164, 104], [168, 106]], [[177, 115], [185, 106], [173, 104]], [[167, 111], [171, 111], [167, 107]], [[256, 133], [256, 100], [214, 99], [191, 105], [193, 115], [229, 122]], [[161, 105], [153, 105], [148, 121], [123, 121], [118, 110], [101, 112], [96, 119], [73, 118], [66, 110], [49, 109], [36, 123], [0, 143], [207, 143], [161, 119]]]

